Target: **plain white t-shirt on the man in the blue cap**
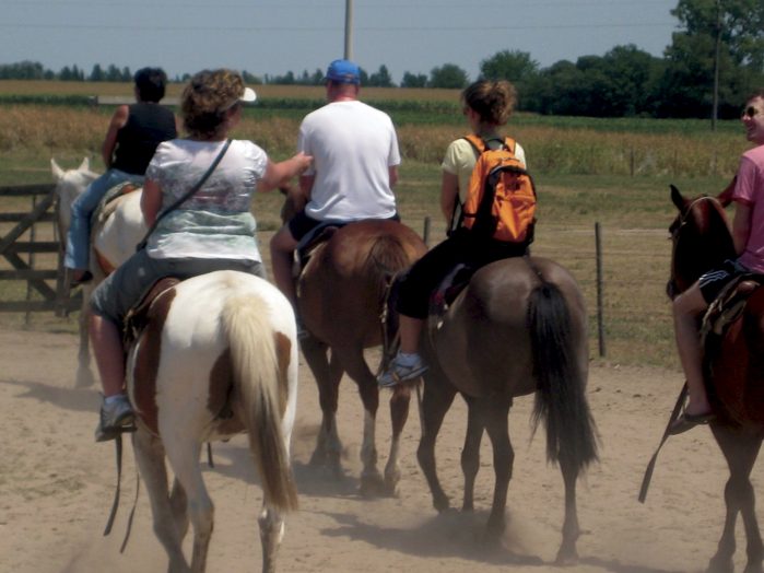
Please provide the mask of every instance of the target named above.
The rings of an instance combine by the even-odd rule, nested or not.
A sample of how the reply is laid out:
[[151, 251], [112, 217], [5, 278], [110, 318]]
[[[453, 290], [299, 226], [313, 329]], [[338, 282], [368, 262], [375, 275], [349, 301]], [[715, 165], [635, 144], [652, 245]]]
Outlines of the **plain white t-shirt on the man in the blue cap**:
[[334, 102], [308, 114], [298, 151], [313, 155], [310, 200], [305, 212], [325, 221], [387, 219], [396, 213], [389, 167], [400, 164], [390, 117], [359, 101]]

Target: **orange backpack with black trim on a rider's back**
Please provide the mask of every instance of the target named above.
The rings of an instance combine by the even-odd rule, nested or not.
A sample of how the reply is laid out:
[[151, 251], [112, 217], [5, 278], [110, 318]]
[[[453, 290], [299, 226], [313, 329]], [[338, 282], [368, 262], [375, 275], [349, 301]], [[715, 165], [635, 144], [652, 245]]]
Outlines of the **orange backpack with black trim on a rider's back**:
[[462, 226], [505, 243], [530, 244], [536, 224], [536, 185], [515, 156], [515, 140], [490, 149], [478, 136], [467, 136], [478, 153], [461, 213]]

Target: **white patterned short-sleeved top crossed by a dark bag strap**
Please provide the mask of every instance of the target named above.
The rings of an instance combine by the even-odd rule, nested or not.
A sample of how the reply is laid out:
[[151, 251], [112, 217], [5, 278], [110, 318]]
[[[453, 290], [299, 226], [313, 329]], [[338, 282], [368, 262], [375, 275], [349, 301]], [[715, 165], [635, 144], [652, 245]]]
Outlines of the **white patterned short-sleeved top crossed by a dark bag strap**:
[[[162, 210], [201, 179], [224, 143], [188, 139], [160, 143], [146, 179], [162, 188]], [[149, 256], [261, 261], [249, 206], [267, 167], [262, 149], [251, 141], [232, 141], [201, 189], [160, 221], [146, 244]]]

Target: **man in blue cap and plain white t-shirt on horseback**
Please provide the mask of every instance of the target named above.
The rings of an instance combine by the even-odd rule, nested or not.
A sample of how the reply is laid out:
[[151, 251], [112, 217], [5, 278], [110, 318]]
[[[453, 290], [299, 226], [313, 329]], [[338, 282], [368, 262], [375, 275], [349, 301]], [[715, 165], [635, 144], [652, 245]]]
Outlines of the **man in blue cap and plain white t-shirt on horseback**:
[[387, 114], [359, 101], [360, 75], [352, 61], [332, 61], [325, 78], [329, 103], [299, 127], [297, 148], [314, 157], [299, 177], [305, 208], [271, 239], [273, 278], [293, 305], [293, 253], [309, 231], [329, 221], [398, 218], [398, 137]]

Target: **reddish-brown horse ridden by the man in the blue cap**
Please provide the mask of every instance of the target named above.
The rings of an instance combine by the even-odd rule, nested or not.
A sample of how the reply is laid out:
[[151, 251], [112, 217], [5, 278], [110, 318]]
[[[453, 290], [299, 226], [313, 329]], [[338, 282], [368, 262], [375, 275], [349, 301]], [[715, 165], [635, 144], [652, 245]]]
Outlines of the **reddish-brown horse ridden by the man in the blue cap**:
[[390, 399], [392, 442], [383, 481], [375, 444], [379, 389], [364, 349], [383, 341], [380, 315], [388, 283], [425, 252], [419, 235], [401, 223], [351, 223], [313, 252], [297, 281], [297, 305], [310, 334], [302, 342], [303, 354], [318, 384], [324, 413], [312, 464], [340, 472], [337, 406], [340, 379], [346, 372], [359, 385], [365, 411], [361, 448], [361, 491], [365, 494], [395, 493], [400, 479], [399, 441], [411, 390], [397, 388]]

